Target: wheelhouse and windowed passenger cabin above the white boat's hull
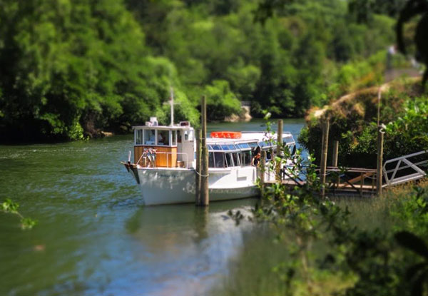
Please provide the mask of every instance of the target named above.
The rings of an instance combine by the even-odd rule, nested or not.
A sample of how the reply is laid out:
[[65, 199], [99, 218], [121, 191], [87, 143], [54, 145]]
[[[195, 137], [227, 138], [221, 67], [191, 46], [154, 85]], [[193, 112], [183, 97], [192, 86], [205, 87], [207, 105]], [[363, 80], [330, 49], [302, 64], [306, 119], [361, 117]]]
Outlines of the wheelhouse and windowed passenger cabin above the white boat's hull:
[[[144, 168], [192, 168], [195, 160], [194, 130], [188, 121], [173, 126], [158, 126], [156, 118], [146, 126], [134, 126], [134, 163]], [[268, 137], [267, 137], [268, 136]], [[253, 165], [253, 157], [266, 150], [267, 160], [276, 154], [276, 135], [262, 132], [213, 132], [207, 138], [208, 167], [232, 168]], [[282, 134], [290, 152], [295, 141], [290, 133]]]

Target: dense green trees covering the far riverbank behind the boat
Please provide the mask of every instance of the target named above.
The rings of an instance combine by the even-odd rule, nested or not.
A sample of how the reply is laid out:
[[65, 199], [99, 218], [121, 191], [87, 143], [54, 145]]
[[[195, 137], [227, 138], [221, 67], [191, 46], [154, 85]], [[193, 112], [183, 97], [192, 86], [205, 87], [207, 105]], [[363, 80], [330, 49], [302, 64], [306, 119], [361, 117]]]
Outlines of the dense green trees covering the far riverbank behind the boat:
[[211, 120], [240, 113], [239, 101], [255, 116], [269, 106], [293, 117], [377, 81], [355, 65], [379, 51], [375, 63], [384, 63], [389, 13], [362, 24], [345, 1], [289, 1], [261, 22], [259, 4], [1, 1], [1, 141], [129, 131], [153, 115], [168, 123], [170, 86], [176, 118], [195, 123], [204, 93]]

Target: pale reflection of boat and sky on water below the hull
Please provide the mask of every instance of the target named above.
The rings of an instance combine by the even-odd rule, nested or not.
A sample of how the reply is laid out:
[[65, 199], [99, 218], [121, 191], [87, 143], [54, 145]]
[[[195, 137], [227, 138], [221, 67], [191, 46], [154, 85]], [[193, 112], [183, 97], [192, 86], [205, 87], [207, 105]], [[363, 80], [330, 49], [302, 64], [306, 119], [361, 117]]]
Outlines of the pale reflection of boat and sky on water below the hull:
[[[240, 248], [249, 223], [240, 227], [228, 218], [231, 208], [246, 212], [257, 199], [194, 205], [143, 207], [128, 221], [133, 262], [156, 270], [146, 280], [151, 295], [203, 295], [224, 274], [228, 260]], [[144, 281], [146, 281], [144, 280]], [[170, 295], [170, 294], [169, 294]]]

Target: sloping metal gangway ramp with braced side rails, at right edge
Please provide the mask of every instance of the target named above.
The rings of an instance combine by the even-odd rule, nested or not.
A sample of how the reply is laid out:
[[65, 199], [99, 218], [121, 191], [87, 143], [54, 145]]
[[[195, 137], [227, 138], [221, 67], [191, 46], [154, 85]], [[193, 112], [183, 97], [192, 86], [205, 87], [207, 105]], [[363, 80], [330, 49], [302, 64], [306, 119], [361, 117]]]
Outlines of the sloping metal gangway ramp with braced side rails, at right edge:
[[382, 187], [422, 179], [427, 170], [428, 150], [387, 160], [383, 165], [385, 183]]

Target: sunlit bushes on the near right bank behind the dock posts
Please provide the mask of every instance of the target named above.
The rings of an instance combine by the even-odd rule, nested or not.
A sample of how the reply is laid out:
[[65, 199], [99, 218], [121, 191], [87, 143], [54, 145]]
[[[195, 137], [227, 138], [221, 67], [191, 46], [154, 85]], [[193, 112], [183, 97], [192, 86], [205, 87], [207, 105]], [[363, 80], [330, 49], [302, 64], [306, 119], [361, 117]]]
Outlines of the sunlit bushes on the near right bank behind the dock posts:
[[[380, 123], [385, 125], [384, 160], [428, 149], [428, 97], [419, 81], [390, 83], [382, 93]], [[339, 165], [374, 168], [377, 159], [378, 88], [368, 88], [332, 103], [325, 115], [330, 116], [329, 154], [332, 142], [339, 141]], [[299, 141], [317, 159], [321, 155], [322, 118], [307, 117]]]

